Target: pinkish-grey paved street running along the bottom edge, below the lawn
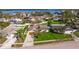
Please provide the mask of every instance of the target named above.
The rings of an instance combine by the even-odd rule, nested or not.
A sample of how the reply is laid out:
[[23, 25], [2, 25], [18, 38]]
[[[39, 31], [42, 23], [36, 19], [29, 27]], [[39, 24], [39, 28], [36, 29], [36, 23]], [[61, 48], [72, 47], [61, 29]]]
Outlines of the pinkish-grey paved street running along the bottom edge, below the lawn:
[[25, 49], [79, 49], [79, 41], [39, 44]]

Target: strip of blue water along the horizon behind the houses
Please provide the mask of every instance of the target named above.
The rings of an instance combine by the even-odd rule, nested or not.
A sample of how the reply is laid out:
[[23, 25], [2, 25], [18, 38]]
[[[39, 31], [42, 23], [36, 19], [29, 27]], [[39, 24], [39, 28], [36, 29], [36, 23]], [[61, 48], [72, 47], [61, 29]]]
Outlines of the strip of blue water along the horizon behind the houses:
[[60, 12], [60, 9], [1, 9], [2, 13], [17, 13], [17, 12]]

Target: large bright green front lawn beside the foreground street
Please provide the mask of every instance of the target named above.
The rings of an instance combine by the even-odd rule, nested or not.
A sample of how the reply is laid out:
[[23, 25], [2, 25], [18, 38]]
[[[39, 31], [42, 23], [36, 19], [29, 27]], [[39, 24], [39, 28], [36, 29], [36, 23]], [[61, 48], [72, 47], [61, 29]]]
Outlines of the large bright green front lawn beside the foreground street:
[[50, 32], [42, 32], [39, 34], [38, 38], [35, 38], [35, 41], [44, 41], [44, 40], [71, 40], [71, 35], [67, 34], [57, 34]]

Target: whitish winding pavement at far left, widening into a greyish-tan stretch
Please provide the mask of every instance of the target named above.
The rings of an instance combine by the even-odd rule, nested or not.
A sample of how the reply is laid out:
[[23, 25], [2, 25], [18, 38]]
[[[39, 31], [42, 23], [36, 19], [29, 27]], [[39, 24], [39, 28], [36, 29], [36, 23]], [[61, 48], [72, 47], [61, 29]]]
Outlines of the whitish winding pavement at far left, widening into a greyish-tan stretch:
[[[26, 24], [28, 25], [28, 24]], [[11, 48], [11, 46], [15, 43], [17, 40], [14, 37], [13, 33], [16, 33], [16, 30], [22, 28], [25, 25], [20, 25], [20, 24], [10, 24], [8, 27], [4, 28], [2, 31], [7, 35], [7, 40], [2, 44], [1, 48]]]

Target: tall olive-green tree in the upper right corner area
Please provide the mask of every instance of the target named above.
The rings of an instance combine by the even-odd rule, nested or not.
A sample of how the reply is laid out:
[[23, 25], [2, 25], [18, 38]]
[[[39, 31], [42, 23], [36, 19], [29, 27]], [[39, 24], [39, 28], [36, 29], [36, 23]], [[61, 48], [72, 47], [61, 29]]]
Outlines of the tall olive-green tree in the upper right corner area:
[[62, 12], [62, 19], [66, 25], [75, 28], [76, 26], [74, 21], [76, 20], [76, 16], [73, 12], [74, 10], [64, 10]]

